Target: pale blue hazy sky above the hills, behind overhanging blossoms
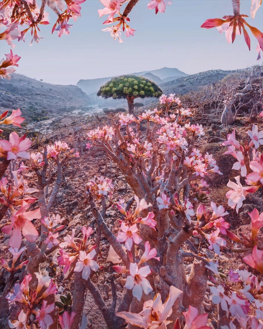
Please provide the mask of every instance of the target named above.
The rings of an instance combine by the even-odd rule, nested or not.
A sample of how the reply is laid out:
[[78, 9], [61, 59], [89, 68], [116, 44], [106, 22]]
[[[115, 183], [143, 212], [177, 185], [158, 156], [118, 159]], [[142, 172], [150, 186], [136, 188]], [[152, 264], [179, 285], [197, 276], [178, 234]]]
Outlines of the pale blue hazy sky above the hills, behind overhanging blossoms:
[[[38, 0], [37, 0], [38, 1]], [[129, 17], [135, 29], [134, 37], [118, 43], [99, 18], [98, 9], [104, 6], [98, 0], [86, 0], [82, 17], [73, 23], [68, 36], [58, 38], [51, 29], [55, 15], [49, 15], [50, 25], [41, 26], [40, 43], [29, 46], [14, 42], [14, 54], [21, 56], [16, 72], [54, 84], [76, 84], [80, 79], [93, 79], [112, 75], [176, 67], [193, 74], [210, 69], [237, 69], [258, 63], [257, 41], [251, 36], [251, 51], [244, 37], [237, 36], [234, 44], [227, 44], [225, 34], [216, 28], [206, 30], [200, 25], [208, 18], [232, 14], [231, 0], [174, 0], [165, 13], [147, 9], [150, 0], [140, 0]], [[250, 0], [241, 0], [240, 12], [250, 15]], [[263, 6], [248, 23], [263, 30]], [[0, 59], [10, 51], [5, 41], [0, 42]]]

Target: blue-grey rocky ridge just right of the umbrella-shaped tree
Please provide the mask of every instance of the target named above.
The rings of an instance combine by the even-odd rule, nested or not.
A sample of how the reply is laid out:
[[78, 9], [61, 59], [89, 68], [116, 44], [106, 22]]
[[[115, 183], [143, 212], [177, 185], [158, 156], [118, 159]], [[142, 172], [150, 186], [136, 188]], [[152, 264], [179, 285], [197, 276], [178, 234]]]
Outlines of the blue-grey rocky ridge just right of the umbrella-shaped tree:
[[164, 94], [176, 93], [183, 95], [189, 91], [195, 91], [199, 87], [211, 85], [212, 81], [220, 81], [231, 72], [235, 71], [210, 70], [200, 72], [162, 83], [159, 87], [162, 89]]

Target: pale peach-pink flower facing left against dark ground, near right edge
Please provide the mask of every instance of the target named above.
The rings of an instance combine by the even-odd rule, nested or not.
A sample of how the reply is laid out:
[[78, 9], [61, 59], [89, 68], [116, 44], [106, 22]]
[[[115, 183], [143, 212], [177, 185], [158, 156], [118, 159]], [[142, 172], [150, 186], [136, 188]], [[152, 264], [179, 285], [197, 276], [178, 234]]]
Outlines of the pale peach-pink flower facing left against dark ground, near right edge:
[[226, 197], [228, 198], [228, 206], [232, 209], [235, 209], [236, 206], [236, 212], [238, 213], [239, 208], [242, 207], [243, 201], [246, 199], [246, 196], [248, 194], [247, 190], [250, 187], [243, 187], [241, 185], [240, 176], [236, 176], [235, 180], [237, 184], [231, 182], [230, 180], [227, 183], [227, 186], [232, 188], [233, 190], [228, 191]]

